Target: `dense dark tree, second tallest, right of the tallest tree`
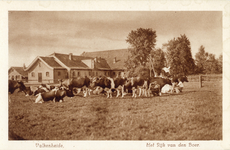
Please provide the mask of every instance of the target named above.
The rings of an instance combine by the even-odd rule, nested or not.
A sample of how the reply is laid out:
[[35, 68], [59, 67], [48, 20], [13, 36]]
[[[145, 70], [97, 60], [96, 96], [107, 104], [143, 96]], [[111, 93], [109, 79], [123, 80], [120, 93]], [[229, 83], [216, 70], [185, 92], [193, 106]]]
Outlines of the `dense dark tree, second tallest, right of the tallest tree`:
[[189, 75], [194, 73], [195, 63], [192, 58], [190, 41], [181, 35], [164, 44], [167, 48], [167, 63], [173, 75]]

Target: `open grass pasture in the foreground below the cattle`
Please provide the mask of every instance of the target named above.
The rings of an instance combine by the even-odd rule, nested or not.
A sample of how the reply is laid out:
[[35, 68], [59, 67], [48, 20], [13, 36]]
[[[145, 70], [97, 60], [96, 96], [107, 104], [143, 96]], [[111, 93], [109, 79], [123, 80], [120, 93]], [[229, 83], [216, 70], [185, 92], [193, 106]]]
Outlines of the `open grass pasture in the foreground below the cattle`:
[[222, 84], [185, 83], [180, 94], [35, 104], [9, 95], [9, 140], [221, 140]]

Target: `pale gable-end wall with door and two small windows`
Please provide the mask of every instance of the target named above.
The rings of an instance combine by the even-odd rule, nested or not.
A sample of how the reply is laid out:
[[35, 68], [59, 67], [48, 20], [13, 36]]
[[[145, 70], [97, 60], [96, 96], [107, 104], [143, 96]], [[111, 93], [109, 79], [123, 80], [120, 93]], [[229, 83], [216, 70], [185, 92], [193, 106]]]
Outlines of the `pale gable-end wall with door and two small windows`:
[[[32, 76], [32, 72], [34, 73], [34, 76]], [[46, 76], [46, 72], [49, 72], [49, 76]], [[53, 69], [46, 66], [40, 60], [37, 60], [32, 68], [30, 68], [30, 70], [28, 71], [28, 83], [39, 83], [38, 73], [42, 73], [41, 83], [53, 83]]]

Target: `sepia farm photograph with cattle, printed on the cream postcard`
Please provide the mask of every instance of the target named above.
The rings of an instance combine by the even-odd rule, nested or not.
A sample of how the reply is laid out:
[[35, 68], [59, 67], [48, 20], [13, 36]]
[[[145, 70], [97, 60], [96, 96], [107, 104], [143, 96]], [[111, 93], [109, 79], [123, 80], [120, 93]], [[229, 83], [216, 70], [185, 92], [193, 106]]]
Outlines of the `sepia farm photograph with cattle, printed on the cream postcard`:
[[224, 141], [223, 14], [8, 10], [7, 141]]

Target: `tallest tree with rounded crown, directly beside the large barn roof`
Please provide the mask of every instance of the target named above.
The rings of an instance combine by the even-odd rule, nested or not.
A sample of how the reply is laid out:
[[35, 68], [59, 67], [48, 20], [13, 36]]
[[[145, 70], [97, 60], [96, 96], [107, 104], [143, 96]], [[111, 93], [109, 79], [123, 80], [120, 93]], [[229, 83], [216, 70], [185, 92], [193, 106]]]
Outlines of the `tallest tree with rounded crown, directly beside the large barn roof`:
[[135, 72], [137, 67], [147, 68], [149, 54], [156, 45], [156, 31], [151, 28], [132, 30], [126, 39], [129, 44], [129, 52], [131, 54], [125, 62], [125, 66], [130, 74]]

